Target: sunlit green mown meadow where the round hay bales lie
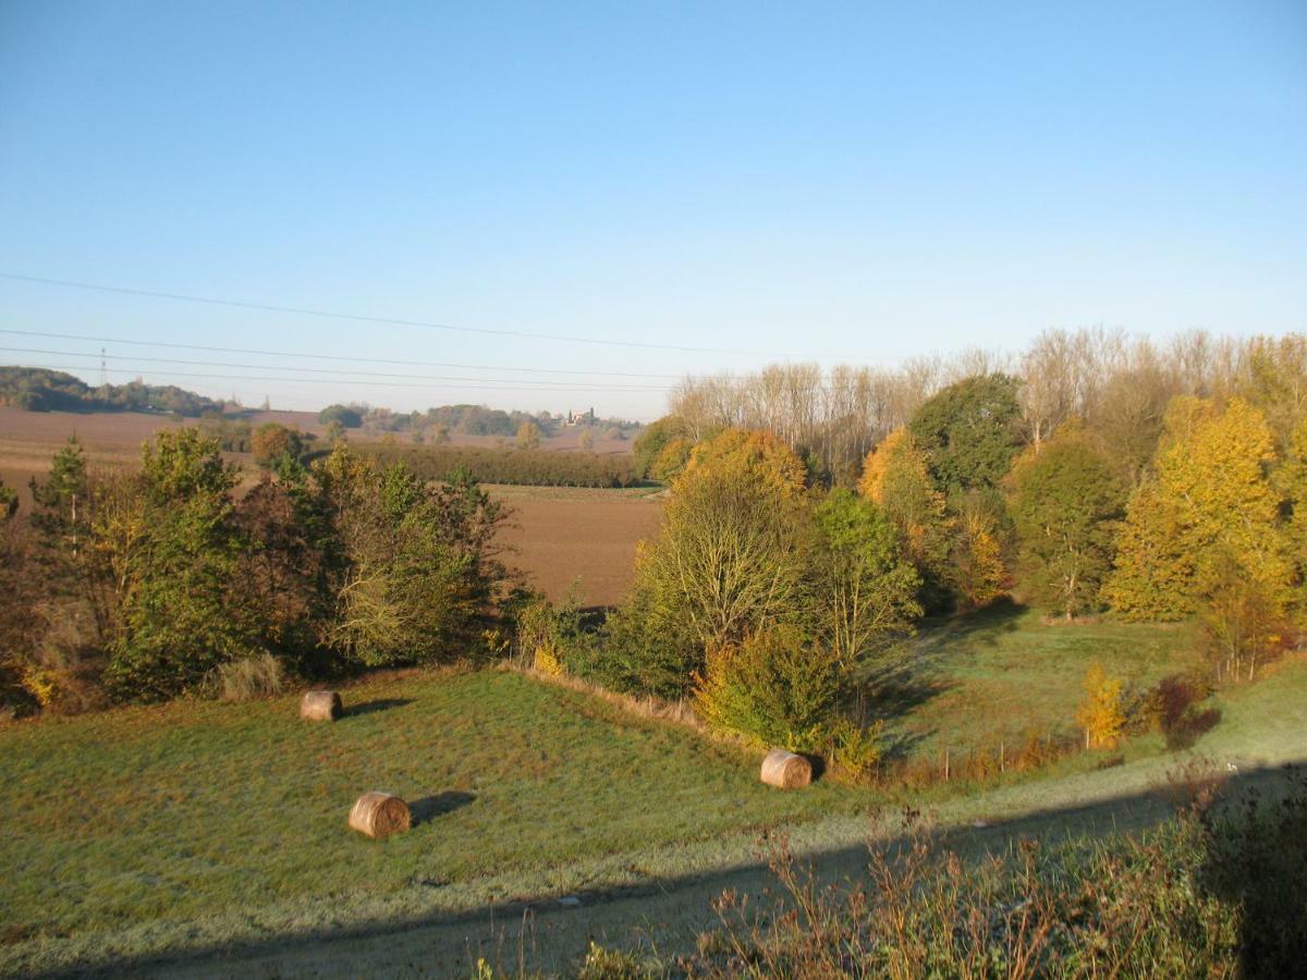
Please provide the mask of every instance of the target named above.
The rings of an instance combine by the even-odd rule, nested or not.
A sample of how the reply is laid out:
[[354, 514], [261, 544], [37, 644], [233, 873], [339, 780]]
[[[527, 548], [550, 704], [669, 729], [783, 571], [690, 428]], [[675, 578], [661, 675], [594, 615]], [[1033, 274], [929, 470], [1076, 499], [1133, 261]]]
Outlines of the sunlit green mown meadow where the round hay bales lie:
[[[510, 673], [378, 681], [346, 703], [376, 710], [315, 725], [294, 698], [186, 703], [0, 733], [10, 938], [440, 886], [855, 796], [770, 792], [752, 755]], [[416, 802], [413, 832], [348, 832], [367, 789]]]

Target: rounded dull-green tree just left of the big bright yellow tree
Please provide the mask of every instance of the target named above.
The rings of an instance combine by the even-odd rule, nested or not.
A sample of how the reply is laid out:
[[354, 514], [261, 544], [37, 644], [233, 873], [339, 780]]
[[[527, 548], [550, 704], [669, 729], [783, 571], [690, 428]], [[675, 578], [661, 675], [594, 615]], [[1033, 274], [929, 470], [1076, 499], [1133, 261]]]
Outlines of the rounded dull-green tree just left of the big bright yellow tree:
[[1064, 426], [1017, 460], [1009, 491], [1022, 591], [1068, 619], [1095, 609], [1125, 506], [1111, 465], [1082, 429]]

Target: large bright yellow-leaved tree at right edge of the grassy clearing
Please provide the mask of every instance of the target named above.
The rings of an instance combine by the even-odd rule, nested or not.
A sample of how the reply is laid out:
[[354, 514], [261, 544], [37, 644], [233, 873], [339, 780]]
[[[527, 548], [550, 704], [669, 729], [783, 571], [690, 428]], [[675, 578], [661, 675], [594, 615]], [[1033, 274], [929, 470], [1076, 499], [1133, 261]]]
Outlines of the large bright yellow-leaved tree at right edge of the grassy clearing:
[[1289, 598], [1291, 567], [1280, 494], [1268, 478], [1270, 429], [1242, 399], [1223, 410], [1180, 397], [1166, 417], [1157, 476], [1131, 499], [1104, 597], [1132, 618], [1193, 613], [1233, 561], [1276, 604]]

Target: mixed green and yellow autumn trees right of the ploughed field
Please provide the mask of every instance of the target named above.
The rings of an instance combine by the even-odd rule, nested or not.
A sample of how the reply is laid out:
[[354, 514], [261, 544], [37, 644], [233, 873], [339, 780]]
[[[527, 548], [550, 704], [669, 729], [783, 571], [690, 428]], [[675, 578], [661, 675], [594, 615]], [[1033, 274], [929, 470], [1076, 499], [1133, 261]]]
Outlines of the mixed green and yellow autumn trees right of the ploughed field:
[[[672, 497], [630, 596], [600, 631], [552, 610], [519, 645], [855, 771], [877, 754], [874, 677], [928, 613], [1010, 595], [1069, 622], [1196, 618], [1213, 679], [1251, 679], [1307, 612], [1307, 342], [1193, 335], [1107, 374], [1057, 354], [1108, 341], [1050, 335], [1025, 363], [1065, 371], [983, 371], [901, 405], [848, 469], [789, 414], [660, 419], [637, 465]], [[1089, 743], [1114, 743], [1120, 679], [1091, 672], [1081, 715]]]

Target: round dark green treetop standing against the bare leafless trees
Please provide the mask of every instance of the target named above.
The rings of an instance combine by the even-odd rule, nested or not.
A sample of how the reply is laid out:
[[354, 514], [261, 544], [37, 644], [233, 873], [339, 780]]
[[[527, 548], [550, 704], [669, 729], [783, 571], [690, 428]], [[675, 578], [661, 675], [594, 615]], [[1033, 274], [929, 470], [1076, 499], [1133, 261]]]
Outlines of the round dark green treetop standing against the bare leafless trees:
[[1006, 476], [1021, 448], [1018, 385], [1004, 374], [976, 375], [950, 384], [912, 416], [908, 433], [945, 495], [989, 490]]

